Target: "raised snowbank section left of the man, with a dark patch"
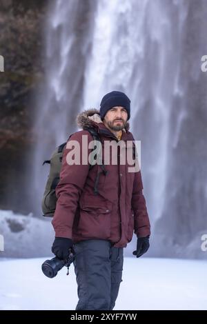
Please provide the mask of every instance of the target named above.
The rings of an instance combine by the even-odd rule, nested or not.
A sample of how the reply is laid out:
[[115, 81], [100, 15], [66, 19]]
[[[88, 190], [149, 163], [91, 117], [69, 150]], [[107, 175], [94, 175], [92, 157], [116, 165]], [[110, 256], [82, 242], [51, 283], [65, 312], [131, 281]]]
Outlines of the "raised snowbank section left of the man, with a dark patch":
[[[4, 251], [0, 257], [39, 258], [51, 252], [55, 232], [51, 219], [15, 214], [12, 210], [0, 210], [0, 234], [4, 238]], [[1, 247], [0, 247], [1, 250]]]

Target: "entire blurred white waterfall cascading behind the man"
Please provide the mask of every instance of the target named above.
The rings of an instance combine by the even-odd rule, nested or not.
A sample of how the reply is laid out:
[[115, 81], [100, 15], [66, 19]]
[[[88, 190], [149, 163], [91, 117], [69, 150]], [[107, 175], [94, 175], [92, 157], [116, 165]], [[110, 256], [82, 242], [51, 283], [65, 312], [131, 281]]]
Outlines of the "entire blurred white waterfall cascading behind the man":
[[[99, 108], [106, 92], [121, 90], [131, 99], [130, 130], [141, 140], [152, 234], [181, 245], [204, 230], [207, 117], [200, 59], [207, 53], [207, 6], [198, 2], [199, 6], [188, 0], [53, 4], [45, 30], [46, 80], [35, 121], [38, 206], [47, 173], [41, 162], [77, 130], [80, 110]], [[156, 249], [153, 253], [159, 254], [161, 247]]]

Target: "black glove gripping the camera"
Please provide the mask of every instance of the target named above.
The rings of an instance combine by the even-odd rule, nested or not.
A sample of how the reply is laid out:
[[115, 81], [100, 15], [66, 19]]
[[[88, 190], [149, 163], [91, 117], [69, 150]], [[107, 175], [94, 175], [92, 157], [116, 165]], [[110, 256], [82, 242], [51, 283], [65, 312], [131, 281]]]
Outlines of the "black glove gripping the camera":
[[73, 243], [71, 239], [66, 237], [55, 237], [55, 241], [52, 244], [52, 253], [54, 253], [59, 259], [66, 260], [70, 254], [69, 249], [73, 250]]

